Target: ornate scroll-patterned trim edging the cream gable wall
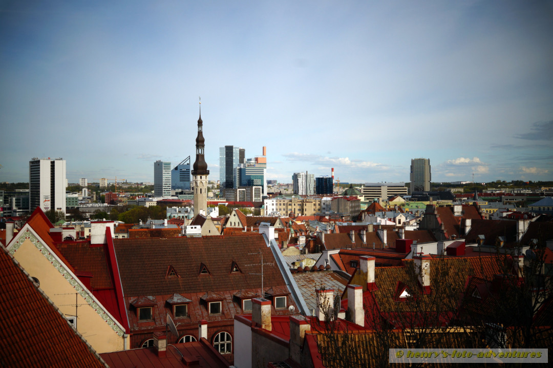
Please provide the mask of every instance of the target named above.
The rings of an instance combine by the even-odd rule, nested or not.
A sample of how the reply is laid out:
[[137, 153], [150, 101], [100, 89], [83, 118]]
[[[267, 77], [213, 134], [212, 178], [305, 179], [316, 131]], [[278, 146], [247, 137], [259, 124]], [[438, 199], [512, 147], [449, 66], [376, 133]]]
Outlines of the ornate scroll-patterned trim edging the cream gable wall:
[[[17, 239], [17, 240], [16, 240]], [[63, 262], [61, 262], [54, 252], [50, 250], [48, 246], [45, 246], [44, 240], [40, 239], [35, 234], [32, 227], [26, 224], [21, 231], [15, 235], [13, 241], [10, 243], [9, 253], [13, 256], [15, 252], [23, 245], [25, 240], [30, 240], [33, 245], [42, 253], [46, 260], [50, 261], [51, 265], [58, 270], [59, 273], [69, 282], [69, 284], [75, 289], [79, 295], [85, 299], [86, 303], [92, 307], [102, 317], [102, 319], [110, 326], [118, 336], [123, 337], [124, 328], [121, 326], [115, 318], [109, 312], [103, 309], [103, 306], [92, 295], [92, 293], [81, 283], [79, 278], [75, 276], [69, 269], [66, 269]]]

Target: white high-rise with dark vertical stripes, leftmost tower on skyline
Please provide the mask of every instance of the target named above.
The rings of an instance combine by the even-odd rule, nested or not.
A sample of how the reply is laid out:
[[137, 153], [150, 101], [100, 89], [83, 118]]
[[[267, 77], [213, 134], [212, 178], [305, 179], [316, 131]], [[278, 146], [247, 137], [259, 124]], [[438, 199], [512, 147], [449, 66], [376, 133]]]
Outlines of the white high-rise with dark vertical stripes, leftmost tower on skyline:
[[29, 161], [30, 210], [55, 209], [65, 214], [65, 160], [33, 158]]

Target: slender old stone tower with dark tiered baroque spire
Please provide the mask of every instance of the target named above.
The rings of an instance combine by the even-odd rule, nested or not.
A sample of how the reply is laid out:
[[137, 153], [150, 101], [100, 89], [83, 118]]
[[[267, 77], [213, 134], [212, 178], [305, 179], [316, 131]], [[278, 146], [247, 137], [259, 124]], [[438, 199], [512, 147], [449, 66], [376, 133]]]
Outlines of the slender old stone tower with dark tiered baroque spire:
[[[201, 102], [200, 102], [201, 103]], [[201, 105], [200, 105], [201, 106]], [[194, 217], [200, 213], [207, 214], [207, 177], [209, 170], [204, 158], [205, 139], [204, 122], [200, 107], [200, 118], [198, 119], [198, 135], [196, 137], [196, 161], [192, 165], [192, 190], [194, 190]]]

